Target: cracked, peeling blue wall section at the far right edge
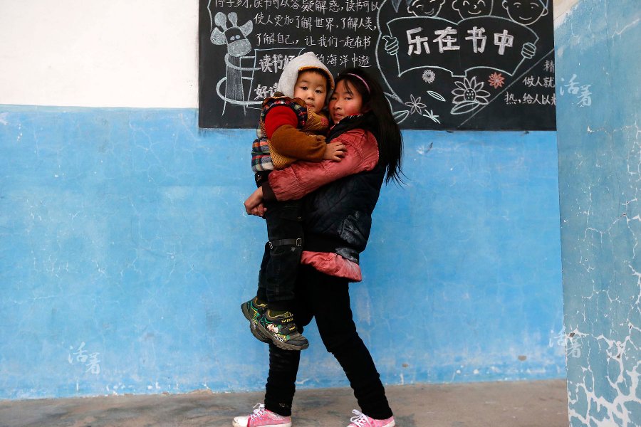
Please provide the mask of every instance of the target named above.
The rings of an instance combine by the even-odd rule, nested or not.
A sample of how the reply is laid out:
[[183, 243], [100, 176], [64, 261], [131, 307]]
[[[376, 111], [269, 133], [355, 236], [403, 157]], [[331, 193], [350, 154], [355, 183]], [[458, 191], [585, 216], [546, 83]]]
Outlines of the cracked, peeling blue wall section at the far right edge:
[[640, 20], [583, 0], [556, 31], [571, 426], [641, 426]]

